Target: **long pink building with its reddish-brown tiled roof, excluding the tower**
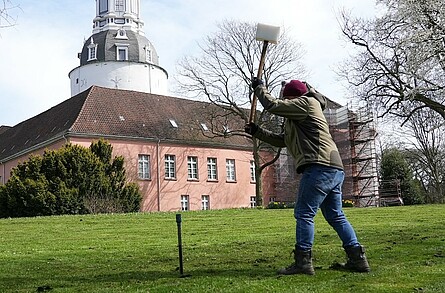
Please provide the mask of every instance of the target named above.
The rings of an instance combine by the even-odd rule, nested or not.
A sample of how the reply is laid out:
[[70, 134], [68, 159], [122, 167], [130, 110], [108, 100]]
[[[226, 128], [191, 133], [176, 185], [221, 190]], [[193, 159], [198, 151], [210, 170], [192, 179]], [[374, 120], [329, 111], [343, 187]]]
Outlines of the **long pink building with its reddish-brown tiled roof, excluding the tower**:
[[[129, 110], [135, 105], [142, 109], [140, 114]], [[0, 184], [30, 155], [58, 149], [65, 143], [89, 147], [103, 138], [112, 145], [114, 156], [124, 157], [128, 180], [140, 186], [143, 212], [254, 207], [256, 182], [250, 139], [203, 135], [205, 131], [196, 126], [210, 125], [205, 116], [207, 106], [93, 87], [0, 134]], [[243, 121], [230, 121], [223, 128], [241, 133]], [[267, 152], [262, 155], [271, 156]], [[266, 204], [275, 196], [273, 173], [273, 167], [263, 171]]]

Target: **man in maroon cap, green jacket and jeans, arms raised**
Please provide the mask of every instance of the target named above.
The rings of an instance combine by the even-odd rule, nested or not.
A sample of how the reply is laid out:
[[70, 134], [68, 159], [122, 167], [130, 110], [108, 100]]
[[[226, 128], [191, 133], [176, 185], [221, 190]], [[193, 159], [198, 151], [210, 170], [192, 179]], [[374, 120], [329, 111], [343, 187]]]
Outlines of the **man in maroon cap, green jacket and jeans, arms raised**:
[[252, 88], [266, 111], [285, 118], [284, 133], [272, 133], [254, 122], [247, 124], [245, 131], [271, 145], [286, 147], [295, 159], [297, 172], [302, 173], [294, 209], [297, 224], [294, 262], [278, 273], [315, 274], [312, 245], [318, 209], [337, 232], [346, 251], [347, 262], [333, 267], [369, 272], [365, 250], [342, 210], [344, 171], [323, 114], [326, 98], [299, 80], [285, 85], [283, 99], [273, 97], [259, 78], [252, 79]]

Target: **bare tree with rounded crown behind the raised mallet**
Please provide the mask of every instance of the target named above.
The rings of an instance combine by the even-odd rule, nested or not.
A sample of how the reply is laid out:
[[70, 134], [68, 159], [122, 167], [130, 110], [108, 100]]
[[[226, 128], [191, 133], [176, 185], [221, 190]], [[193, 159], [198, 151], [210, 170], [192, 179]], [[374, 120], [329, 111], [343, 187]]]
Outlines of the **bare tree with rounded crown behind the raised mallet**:
[[[186, 56], [179, 62], [177, 92], [186, 96], [206, 99], [219, 107], [226, 117], [215, 115], [212, 123], [213, 135], [241, 135], [242, 127], [238, 129], [223, 129], [227, 125], [221, 123], [227, 117], [236, 116], [241, 121], [248, 122], [250, 103], [252, 102], [251, 79], [256, 75], [262, 44], [255, 40], [256, 25], [238, 21], [224, 21], [218, 25], [219, 31], [208, 36], [200, 44], [201, 56]], [[273, 92], [281, 89], [283, 80], [305, 78], [306, 72], [301, 63], [303, 50], [300, 44], [291, 40], [283, 32], [277, 45], [270, 45], [266, 55], [263, 79], [266, 86]], [[277, 127], [279, 119], [267, 113], [256, 115], [260, 125], [268, 124]], [[250, 137], [250, 136], [249, 136]], [[256, 201], [262, 205], [261, 172], [272, 164], [273, 160], [265, 160], [260, 156], [265, 146], [253, 139], [253, 155], [255, 162]]]

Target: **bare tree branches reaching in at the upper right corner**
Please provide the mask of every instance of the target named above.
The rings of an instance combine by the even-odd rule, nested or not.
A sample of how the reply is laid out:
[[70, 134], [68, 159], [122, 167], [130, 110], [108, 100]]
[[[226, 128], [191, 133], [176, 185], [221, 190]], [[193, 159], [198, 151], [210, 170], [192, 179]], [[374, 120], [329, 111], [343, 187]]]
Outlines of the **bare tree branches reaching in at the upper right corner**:
[[377, 0], [379, 16], [343, 12], [344, 36], [360, 49], [340, 74], [351, 93], [375, 103], [379, 116], [404, 118], [425, 108], [445, 119], [445, 3]]

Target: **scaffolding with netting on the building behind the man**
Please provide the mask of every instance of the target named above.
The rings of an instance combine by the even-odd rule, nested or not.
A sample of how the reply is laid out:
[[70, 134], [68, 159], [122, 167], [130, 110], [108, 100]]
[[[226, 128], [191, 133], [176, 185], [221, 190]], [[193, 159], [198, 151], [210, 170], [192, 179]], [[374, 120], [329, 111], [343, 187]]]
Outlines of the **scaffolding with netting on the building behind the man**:
[[[368, 107], [329, 103], [324, 111], [332, 138], [343, 160], [343, 199], [357, 207], [379, 206], [379, 182], [374, 118]], [[276, 200], [295, 200], [299, 177], [295, 163], [285, 149], [275, 163]]]

